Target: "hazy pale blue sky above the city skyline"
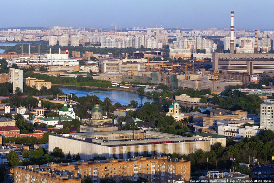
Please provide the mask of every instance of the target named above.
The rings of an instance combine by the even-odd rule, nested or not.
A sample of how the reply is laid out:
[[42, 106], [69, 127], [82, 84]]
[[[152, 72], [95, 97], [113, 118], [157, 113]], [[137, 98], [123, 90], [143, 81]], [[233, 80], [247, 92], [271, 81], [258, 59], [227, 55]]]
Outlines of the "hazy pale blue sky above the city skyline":
[[1, 0], [0, 27], [273, 29], [273, 0]]

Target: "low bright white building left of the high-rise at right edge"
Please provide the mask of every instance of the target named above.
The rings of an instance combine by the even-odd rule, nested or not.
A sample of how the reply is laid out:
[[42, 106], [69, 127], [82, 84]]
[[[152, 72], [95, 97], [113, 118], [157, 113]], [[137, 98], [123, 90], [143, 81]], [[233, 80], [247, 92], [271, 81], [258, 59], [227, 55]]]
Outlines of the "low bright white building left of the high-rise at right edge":
[[218, 133], [227, 137], [252, 137], [259, 132], [259, 126], [241, 125], [238, 123], [229, 123], [218, 125]]

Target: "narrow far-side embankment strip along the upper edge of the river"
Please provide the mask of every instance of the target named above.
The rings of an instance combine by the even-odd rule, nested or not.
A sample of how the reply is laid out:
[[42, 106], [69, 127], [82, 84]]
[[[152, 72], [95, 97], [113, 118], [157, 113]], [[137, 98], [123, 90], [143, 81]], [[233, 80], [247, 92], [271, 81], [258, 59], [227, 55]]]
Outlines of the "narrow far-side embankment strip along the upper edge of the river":
[[[148, 98], [153, 98], [156, 99], [153, 96], [149, 96], [146, 94], [140, 94], [137, 90], [132, 90], [132, 89], [127, 89], [127, 88], [100, 88], [100, 87], [94, 87], [94, 86], [77, 86], [77, 85], [63, 85], [63, 84], [52, 84], [53, 86], [58, 86], [58, 87], [76, 87], [76, 88], [88, 88], [88, 89], [102, 89], [102, 90], [107, 90], [107, 91], [126, 91], [126, 92], [131, 92], [135, 93], [141, 96], [145, 96]], [[162, 98], [159, 98], [160, 100], [163, 100]], [[165, 99], [172, 101], [172, 99]], [[184, 101], [178, 101], [179, 104], [182, 105], [197, 105], [197, 106], [210, 106], [210, 107], [220, 107], [219, 105], [215, 104], [208, 104], [208, 103], [195, 103], [195, 102], [184, 102]]]

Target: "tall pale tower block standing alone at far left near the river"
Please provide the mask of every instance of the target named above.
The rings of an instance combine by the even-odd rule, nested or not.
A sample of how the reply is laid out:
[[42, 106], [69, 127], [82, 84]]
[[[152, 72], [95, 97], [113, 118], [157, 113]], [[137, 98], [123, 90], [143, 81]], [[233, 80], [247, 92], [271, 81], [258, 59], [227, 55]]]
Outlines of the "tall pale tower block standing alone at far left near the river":
[[15, 93], [16, 88], [23, 92], [23, 70], [9, 68], [9, 82], [12, 83], [13, 93]]

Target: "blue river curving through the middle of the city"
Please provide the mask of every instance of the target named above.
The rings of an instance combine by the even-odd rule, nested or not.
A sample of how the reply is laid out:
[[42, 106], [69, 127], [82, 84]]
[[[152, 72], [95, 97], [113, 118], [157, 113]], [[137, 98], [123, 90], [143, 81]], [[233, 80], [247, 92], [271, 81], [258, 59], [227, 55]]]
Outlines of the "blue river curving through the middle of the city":
[[[99, 97], [100, 100], [104, 100], [106, 97], [110, 98], [114, 103], [119, 102], [121, 105], [128, 105], [131, 100], [135, 100], [138, 103], [145, 103], [145, 102], [153, 102], [154, 100], [150, 97], [142, 97], [141, 95], [128, 92], [128, 91], [115, 91], [115, 90], [104, 90], [104, 89], [89, 89], [89, 88], [72, 88], [72, 87], [59, 87], [64, 93], [70, 94], [75, 93], [77, 97], [87, 96], [87, 94], [96, 95]], [[187, 105], [185, 106], [193, 106], [195, 105]], [[211, 109], [212, 107], [209, 106], [198, 106], [201, 111], [205, 111], [206, 109]]]

